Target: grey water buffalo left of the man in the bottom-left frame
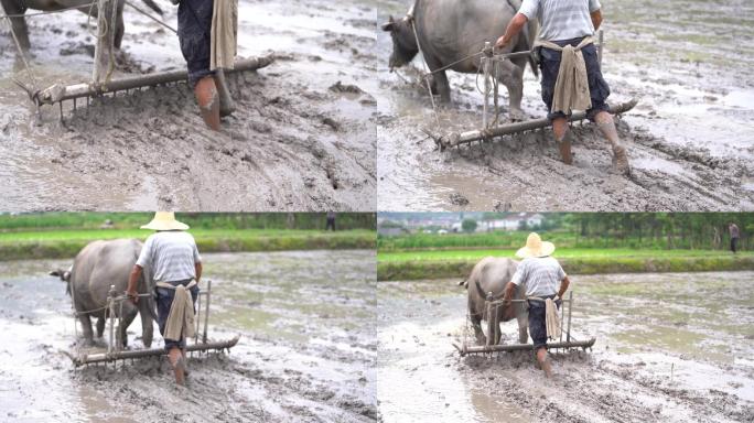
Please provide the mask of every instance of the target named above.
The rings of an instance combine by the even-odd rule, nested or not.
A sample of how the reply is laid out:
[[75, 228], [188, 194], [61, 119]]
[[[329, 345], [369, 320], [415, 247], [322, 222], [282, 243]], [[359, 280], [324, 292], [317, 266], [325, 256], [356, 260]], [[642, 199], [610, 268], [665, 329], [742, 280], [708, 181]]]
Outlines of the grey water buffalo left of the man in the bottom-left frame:
[[[116, 239], [109, 241], [94, 241], [84, 247], [76, 256], [69, 270], [55, 270], [51, 275], [60, 276], [66, 282], [66, 291], [71, 294], [74, 310], [84, 328], [84, 338], [87, 344], [94, 340], [91, 332], [91, 317], [97, 317], [97, 337], [103, 336], [105, 319], [108, 316], [105, 310], [110, 285], [115, 285], [116, 292], [122, 295], [128, 286], [128, 278], [139, 258], [142, 243], [136, 239]], [[139, 281], [139, 293], [153, 291], [153, 282], [149, 278], [148, 269]], [[137, 314], [141, 316], [142, 341], [146, 347], [152, 345], [152, 319], [154, 316], [154, 302], [142, 299], [138, 305], [130, 301], [122, 303], [122, 325], [117, 330], [118, 341], [125, 347], [128, 345], [126, 330], [133, 322]], [[117, 307], [116, 314], [120, 313]]]

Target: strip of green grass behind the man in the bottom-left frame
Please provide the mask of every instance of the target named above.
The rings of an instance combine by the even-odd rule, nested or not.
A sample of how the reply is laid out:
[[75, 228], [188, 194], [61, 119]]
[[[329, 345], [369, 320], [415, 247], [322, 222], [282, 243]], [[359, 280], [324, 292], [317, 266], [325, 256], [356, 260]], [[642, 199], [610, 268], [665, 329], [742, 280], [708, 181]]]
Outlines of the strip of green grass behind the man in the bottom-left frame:
[[[374, 249], [376, 235], [356, 229], [336, 232], [286, 229], [192, 229], [202, 252]], [[78, 229], [0, 232], [0, 260], [73, 258], [98, 239], [146, 239], [140, 229]]]

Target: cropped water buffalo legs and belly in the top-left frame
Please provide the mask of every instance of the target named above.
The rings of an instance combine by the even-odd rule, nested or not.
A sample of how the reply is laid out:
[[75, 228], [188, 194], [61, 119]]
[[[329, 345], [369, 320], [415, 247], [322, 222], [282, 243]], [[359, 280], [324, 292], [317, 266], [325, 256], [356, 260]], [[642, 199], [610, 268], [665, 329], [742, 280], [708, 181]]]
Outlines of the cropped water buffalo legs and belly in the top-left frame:
[[[91, 15], [97, 17], [97, 4], [89, 7], [91, 1], [96, 0], [0, 0], [0, 4], [6, 10], [8, 14], [24, 14], [26, 10], [42, 10], [45, 12], [56, 11], [61, 9], [77, 8], [84, 13], [89, 13], [91, 9]], [[141, 0], [153, 11], [162, 15], [162, 10], [152, 0]], [[116, 18], [116, 33], [115, 33], [115, 46], [120, 48], [120, 43], [123, 40], [123, 4], [126, 0], [117, 0], [117, 18]], [[96, 24], [96, 19], [95, 22]], [[24, 18], [12, 18], [11, 24], [13, 25], [13, 32], [19, 37], [19, 44], [21, 48], [28, 51], [31, 47], [29, 43], [29, 30], [26, 29], [26, 21]]]

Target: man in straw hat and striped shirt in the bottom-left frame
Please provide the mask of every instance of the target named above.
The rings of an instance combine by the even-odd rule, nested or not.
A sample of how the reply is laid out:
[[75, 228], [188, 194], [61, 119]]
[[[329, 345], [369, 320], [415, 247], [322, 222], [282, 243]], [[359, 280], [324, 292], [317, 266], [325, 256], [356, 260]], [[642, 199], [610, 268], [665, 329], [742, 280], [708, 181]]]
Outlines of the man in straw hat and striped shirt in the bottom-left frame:
[[157, 232], [147, 238], [131, 271], [126, 294], [133, 303], [139, 301], [137, 282], [143, 269], [148, 268], [157, 285], [158, 324], [165, 340], [168, 359], [175, 372], [175, 382], [184, 384], [187, 376], [185, 338], [193, 336], [202, 258], [194, 237], [185, 232], [188, 226], [175, 220], [172, 212], [155, 213], [152, 221], [141, 229]]

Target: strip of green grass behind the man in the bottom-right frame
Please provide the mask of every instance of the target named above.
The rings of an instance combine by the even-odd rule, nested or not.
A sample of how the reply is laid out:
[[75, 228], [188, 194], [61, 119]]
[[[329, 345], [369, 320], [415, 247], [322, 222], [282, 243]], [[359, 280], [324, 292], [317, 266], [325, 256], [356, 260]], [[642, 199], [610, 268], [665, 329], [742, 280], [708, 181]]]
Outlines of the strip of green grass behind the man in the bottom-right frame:
[[[378, 252], [377, 279], [463, 279], [482, 258], [514, 258], [516, 250], [432, 250]], [[558, 258], [571, 274], [634, 272], [702, 272], [754, 270], [754, 252], [728, 251], [560, 249]]]

